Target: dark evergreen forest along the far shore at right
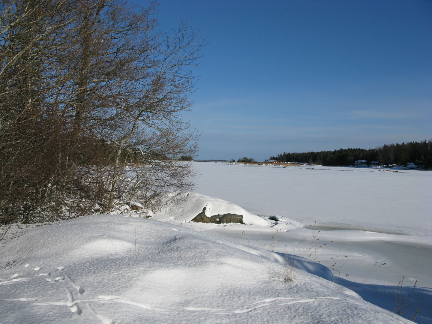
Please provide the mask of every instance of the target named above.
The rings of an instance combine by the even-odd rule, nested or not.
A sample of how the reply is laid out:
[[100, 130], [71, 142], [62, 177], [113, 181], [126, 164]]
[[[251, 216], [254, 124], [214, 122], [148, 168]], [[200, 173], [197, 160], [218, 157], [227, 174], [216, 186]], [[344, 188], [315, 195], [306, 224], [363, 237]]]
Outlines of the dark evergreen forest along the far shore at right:
[[357, 160], [367, 164], [378, 161], [380, 165], [413, 162], [432, 168], [432, 140], [423, 142], [384, 144], [375, 149], [337, 149], [334, 151], [287, 153], [271, 156], [270, 160], [279, 162], [299, 162], [318, 165], [353, 165]]

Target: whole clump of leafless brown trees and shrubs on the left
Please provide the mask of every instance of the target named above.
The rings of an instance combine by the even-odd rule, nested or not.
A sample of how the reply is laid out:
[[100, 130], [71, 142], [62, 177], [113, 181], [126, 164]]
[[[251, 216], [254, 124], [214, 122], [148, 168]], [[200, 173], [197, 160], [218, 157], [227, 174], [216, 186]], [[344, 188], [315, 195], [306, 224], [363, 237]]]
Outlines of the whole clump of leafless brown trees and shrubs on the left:
[[159, 32], [156, 6], [0, 1], [0, 226], [190, 188], [181, 112], [202, 39], [184, 22]]

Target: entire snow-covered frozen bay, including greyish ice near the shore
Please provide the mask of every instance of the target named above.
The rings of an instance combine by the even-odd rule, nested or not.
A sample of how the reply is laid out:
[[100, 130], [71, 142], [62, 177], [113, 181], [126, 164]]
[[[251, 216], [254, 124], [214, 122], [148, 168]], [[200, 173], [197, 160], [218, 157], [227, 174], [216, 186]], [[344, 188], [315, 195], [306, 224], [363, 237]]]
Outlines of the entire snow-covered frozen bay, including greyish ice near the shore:
[[[290, 226], [286, 232], [283, 223], [272, 226], [259, 244], [249, 244], [267, 242], [267, 249], [319, 261], [357, 283], [397, 286], [405, 275], [404, 284], [418, 278], [418, 286], [432, 287], [431, 171], [211, 162], [194, 167], [201, 194], [256, 215], [278, 215]], [[234, 228], [227, 235], [239, 237]]]

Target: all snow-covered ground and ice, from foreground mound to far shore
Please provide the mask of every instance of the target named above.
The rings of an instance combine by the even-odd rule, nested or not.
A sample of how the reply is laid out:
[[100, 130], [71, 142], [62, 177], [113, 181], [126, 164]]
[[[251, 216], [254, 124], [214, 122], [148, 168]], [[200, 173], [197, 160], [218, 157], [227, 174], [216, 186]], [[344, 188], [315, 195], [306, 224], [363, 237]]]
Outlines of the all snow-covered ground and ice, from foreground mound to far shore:
[[[431, 322], [431, 172], [194, 166], [199, 194], [157, 213], [1, 241], [0, 323], [408, 323], [403, 275], [404, 316]], [[191, 222], [203, 207], [245, 225]]]

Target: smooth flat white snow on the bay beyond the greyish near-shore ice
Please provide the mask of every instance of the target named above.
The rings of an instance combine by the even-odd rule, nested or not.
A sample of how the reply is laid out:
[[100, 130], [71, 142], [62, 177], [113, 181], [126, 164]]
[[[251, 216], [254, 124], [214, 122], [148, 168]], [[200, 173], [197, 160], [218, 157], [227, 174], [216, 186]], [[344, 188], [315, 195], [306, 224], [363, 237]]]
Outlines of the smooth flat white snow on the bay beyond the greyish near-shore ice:
[[432, 236], [432, 171], [212, 162], [194, 167], [197, 192], [255, 215]]

